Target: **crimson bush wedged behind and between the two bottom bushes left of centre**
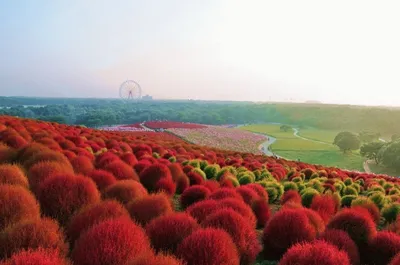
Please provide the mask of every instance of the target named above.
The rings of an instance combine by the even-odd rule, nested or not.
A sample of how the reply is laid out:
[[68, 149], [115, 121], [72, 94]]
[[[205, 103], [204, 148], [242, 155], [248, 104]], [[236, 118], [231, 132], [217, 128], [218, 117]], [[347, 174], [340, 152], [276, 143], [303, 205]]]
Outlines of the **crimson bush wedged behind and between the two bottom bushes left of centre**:
[[157, 252], [175, 254], [181, 241], [199, 228], [196, 220], [186, 213], [172, 213], [153, 219], [146, 226], [152, 246]]

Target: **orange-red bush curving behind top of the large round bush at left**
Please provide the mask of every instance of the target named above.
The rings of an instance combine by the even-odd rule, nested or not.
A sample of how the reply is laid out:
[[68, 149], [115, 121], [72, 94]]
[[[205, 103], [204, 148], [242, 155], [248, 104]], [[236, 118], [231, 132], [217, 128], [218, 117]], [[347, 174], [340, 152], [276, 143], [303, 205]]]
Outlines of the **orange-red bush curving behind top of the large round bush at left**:
[[28, 171], [28, 180], [31, 190], [38, 192], [39, 186], [54, 175], [73, 174], [74, 170], [71, 165], [59, 162], [43, 161], [33, 165]]

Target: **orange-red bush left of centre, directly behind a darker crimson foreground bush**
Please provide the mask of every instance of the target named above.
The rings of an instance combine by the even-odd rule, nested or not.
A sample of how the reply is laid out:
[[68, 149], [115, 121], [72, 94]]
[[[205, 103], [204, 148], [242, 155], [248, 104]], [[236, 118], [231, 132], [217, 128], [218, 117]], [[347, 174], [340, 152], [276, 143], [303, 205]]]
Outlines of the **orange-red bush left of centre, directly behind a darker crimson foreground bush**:
[[145, 225], [156, 217], [173, 212], [172, 202], [165, 193], [156, 193], [136, 199], [127, 205], [132, 217]]

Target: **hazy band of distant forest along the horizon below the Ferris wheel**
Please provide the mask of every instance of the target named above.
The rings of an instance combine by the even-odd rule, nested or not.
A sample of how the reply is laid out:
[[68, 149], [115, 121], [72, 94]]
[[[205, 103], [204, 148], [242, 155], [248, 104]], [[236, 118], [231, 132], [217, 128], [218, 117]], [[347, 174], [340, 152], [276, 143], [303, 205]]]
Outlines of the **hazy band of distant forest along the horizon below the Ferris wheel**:
[[0, 97], [0, 115], [98, 127], [148, 120], [202, 124], [279, 122], [327, 130], [400, 132], [400, 108], [306, 103], [121, 101], [118, 99]]

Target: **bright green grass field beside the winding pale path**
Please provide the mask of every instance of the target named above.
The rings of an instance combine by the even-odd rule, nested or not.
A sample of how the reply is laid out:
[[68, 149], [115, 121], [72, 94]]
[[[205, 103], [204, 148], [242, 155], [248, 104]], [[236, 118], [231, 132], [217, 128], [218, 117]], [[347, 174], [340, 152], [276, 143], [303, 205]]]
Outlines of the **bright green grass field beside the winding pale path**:
[[358, 152], [343, 154], [338, 147], [330, 144], [338, 131], [314, 128], [300, 129], [300, 136], [327, 143], [324, 144], [300, 139], [293, 135], [292, 130], [283, 132], [280, 130], [280, 125], [275, 124], [254, 124], [243, 126], [241, 129], [275, 137], [277, 140], [271, 145], [271, 150], [284, 158], [300, 159], [300, 161], [311, 164], [363, 171], [364, 159]]

